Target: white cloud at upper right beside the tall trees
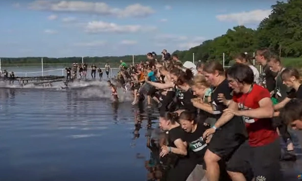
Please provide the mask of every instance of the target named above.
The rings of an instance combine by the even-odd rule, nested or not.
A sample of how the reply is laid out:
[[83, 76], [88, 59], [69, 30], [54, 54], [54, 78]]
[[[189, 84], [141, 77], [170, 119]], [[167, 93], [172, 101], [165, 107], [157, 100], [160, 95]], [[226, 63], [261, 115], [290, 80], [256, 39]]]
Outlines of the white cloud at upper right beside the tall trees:
[[259, 23], [271, 14], [271, 10], [253, 10], [232, 14], [217, 15], [216, 18], [221, 22], [236, 22], [240, 25], [247, 23]]

